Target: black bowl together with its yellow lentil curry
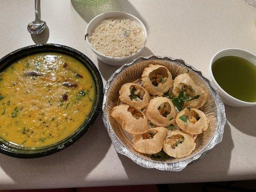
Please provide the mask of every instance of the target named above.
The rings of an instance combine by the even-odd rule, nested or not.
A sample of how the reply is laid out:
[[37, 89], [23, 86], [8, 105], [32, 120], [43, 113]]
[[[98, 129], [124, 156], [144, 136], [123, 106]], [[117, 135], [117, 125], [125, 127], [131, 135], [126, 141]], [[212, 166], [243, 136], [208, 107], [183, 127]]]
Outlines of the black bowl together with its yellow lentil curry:
[[102, 99], [97, 67], [76, 49], [13, 51], [0, 60], [0, 152], [34, 158], [68, 147], [96, 120]]

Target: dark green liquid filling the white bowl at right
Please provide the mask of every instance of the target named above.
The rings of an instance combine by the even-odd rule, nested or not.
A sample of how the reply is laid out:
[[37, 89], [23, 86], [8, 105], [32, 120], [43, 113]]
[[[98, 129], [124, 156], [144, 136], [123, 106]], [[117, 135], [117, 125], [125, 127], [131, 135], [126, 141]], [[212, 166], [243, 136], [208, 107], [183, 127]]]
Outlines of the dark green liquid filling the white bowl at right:
[[256, 66], [241, 57], [225, 56], [214, 61], [212, 73], [219, 86], [231, 96], [256, 102]]

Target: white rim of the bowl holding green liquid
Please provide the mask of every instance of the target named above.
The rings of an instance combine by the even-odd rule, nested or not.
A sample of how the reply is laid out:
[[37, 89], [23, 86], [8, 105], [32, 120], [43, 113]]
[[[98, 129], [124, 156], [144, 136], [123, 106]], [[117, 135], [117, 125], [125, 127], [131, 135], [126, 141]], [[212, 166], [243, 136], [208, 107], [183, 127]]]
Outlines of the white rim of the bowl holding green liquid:
[[[246, 51], [244, 49], [241, 49], [241, 48], [225, 48], [225, 49], [221, 49], [219, 50], [217, 53], [215, 53], [210, 62], [209, 62], [209, 67], [208, 67], [208, 72], [209, 72], [209, 77], [210, 77], [210, 80], [213, 81], [214, 85], [217, 86], [217, 88], [221, 91], [222, 94], [224, 94], [225, 96], [228, 97], [229, 100], [232, 100], [232, 101], [235, 101], [236, 103], [239, 103], [240, 105], [244, 105], [244, 106], [253, 106], [253, 105], [256, 105], [256, 102], [248, 102], [248, 101], [243, 101], [243, 100], [240, 100], [240, 99], [237, 99], [233, 96], [231, 96], [230, 94], [228, 94], [224, 89], [222, 89], [222, 87], [217, 83], [216, 79], [214, 78], [214, 75], [213, 75], [213, 72], [212, 72], [212, 65], [213, 65], [213, 61], [215, 60], [215, 58], [222, 52], [225, 52], [225, 51], [240, 51], [240, 52], [245, 52], [245, 53], [248, 53], [250, 55], [252, 55], [255, 59], [256, 59], [256, 55], [250, 51]], [[222, 57], [225, 57], [225, 56], [222, 56]], [[241, 56], [239, 56], [241, 57]], [[221, 57], [220, 57], [221, 58]], [[244, 57], [242, 57], [244, 58]], [[244, 58], [245, 60], [247, 60], [246, 58]], [[254, 63], [253, 63], [254, 64]]]

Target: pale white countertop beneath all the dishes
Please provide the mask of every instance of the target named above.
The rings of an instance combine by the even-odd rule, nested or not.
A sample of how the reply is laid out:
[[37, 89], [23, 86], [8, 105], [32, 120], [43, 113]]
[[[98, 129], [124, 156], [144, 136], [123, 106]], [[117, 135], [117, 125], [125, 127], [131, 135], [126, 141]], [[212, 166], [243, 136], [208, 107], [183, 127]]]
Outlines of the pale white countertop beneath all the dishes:
[[[182, 58], [205, 76], [209, 60], [220, 49], [243, 48], [256, 53], [256, 8], [243, 0], [110, 0], [107, 8], [80, 8], [80, 14], [70, 0], [42, 0], [48, 43], [83, 52], [98, 67], [104, 84], [117, 67], [97, 60], [84, 35], [94, 14], [111, 10], [132, 13], [144, 22], [148, 40], [142, 55]], [[33, 0], [0, 0], [0, 58], [34, 44], [26, 30], [33, 19]], [[45, 40], [44, 36], [33, 37], [36, 42], [40, 38]], [[82, 138], [59, 153], [37, 159], [0, 154], [0, 189], [256, 179], [256, 107], [225, 108], [228, 124], [222, 142], [181, 172], [142, 168], [117, 154], [99, 115]]]

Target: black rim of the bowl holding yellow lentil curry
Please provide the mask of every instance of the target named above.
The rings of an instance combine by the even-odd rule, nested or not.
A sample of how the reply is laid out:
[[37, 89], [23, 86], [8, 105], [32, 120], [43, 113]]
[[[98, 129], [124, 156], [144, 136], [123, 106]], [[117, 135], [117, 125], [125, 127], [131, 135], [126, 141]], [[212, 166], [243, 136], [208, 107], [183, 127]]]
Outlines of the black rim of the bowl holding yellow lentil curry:
[[[17, 152], [17, 150], [10, 150], [10, 147], [5, 145], [3, 142], [0, 142], [0, 153], [7, 155], [7, 156], [12, 156], [12, 157], [17, 157], [17, 158], [37, 158], [37, 157], [42, 157], [42, 156], [49, 156], [51, 154], [57, 153], [67, 147], [69, 147], [71, 144], [73, 144], [75, 141], [77, 141], [83, 134], [85, 134], [85, 132], [87, 132], [92, 124], [95, 122], [95, 120], [98, 117], [98, 114], [100, 112], [101, 106], [102, 106], [102, 101], [103, 101], [103, 82], [102, 82], [102, 78], [101, 75], [98, 71], [98, 68], [96, 67], [96, 65], [92, 62], [92, 60], [90, 60], [85, 54], [83, 54], [82, 52], [65, 46], [65, 45], [61, 45], [61, 44], [53, 44], [53, 43], [45, 43], [45, 44], [36, 44], [36, 45], [30, 45], [30, 46], [26, 46], [23, 48], [19, 48], [16, 49], [14, 51], [12, 51], [11, 53], [5, 55], [4, 57], [2, 57], [0, 59], [0, 65], [3, 61], [7, 60], [8, 58], [11, 58], [14, 54], [19, 54], [19, 53], [24, 53], [21, 56], [18, 56], [18, 58], [23, 58], [25, 55], [29, 55], [29, 54], [35, 54], [35, 53], [29, 53], [29, 50], [33, 50], [34, 48], [48, 48], [49, 50], [40, 50], [38, 49], [38, 51], [36, 52], [58, 52], [58, 53], [62, 53], [65, 55], [68, 55], [68, 53], [65, 53], [65, 51], [70, 52], [78, 57], [81, 57], [83, 60], [86, 60], [86, 62], [88, 63], [88, 65], [92, 68], [92, 71], [90, 69], [88, 69], [88, 67], [80, 60], [80, 62], [91, 72], [91, 73], [95, 73], [95, 76], [97, 77], [97, 83], [98, 85], [98, 100], [96, 98], [95, 100], [95, 107], [94, 109], [94, 113], [91, 115], [91, 119], [88, 120], [86, 122], [86, 120], [83, 121], [83, 124], [86, 122], [87, 124], [83, 126], [83, 124], [80, 126], [82, 127], [81, 130], [77, 133], [77, 134], [73, 134], [73, 137], [69, 138], [70, 136], [72, 136], [72, 134], [68, 137], [66, 137], [65, 139], [67, 139], [65, 142], [61, 142], [64, 141], [65, 139], [61, 140], [60, 142], [57, 142], [56, 145], [48, 145], [46, 147], [44, 147], [42, 150], [43, 151], [37, 151], [37, 149], [35, 148], [35, 153], [19, 153]], [[51, 50], [50, 48], [55, 48], [54, 50]], [[60, 49], [58, 49], [60, 48]], [[70, 55], [71, 57], [74, 57], [72, 55]], [[9, 64], [7, 64], [8, 66]], [[5, 66], [4, 66], [5, 67]], [[95, 80], [94, 80], [95, 81]], [[20, 147], [21, 149], [24, 149], [26, 147]], [[30, 148], [28, 151], [33, 150], [32, 148]], [[39, 149], [38, 149], [39, 150]]]

